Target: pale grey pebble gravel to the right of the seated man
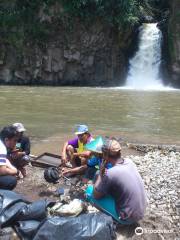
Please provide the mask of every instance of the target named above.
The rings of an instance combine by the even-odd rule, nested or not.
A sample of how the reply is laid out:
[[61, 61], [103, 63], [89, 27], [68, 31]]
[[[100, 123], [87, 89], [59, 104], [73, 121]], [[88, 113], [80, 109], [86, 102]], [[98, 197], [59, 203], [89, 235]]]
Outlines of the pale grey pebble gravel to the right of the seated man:
[[152, 214], [168, 222], [174, 233], [180, 229], [177, 203], [180, 200], [180, 153], [150, 151], [145, 156], [128, 156], [137, 165], [148, 197], [146, 217]]

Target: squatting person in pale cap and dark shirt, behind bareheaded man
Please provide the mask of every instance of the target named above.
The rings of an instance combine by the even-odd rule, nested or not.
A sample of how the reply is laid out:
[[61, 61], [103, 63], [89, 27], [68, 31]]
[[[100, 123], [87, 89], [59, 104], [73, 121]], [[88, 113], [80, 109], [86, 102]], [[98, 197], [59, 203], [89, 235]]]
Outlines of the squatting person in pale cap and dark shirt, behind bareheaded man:
[[20, 171], [20, 178], [26, 176], [25, 166], [28, 164], [30, 157], [30, 140], [24, 135], [26, 129], [22, 123], [14, 123], [13, 127], [17, 131], [17, 143], [13, 150], [9, 151], [11, 163]]

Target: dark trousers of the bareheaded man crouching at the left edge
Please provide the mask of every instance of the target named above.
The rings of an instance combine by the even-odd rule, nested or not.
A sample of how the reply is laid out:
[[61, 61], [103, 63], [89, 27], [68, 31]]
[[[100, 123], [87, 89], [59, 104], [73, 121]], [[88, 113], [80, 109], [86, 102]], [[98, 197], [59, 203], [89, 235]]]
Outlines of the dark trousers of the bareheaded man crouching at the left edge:
[[0, 176], [0, 189], [13, 190], [16, 187], [17, 179], [15, 176]]

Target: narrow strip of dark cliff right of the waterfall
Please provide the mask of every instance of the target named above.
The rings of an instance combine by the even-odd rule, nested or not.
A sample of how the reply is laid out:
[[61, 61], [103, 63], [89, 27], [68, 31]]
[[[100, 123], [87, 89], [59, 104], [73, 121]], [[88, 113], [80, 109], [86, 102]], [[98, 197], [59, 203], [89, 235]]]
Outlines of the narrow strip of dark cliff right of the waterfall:
[[170, 73], [173, 85], [180, 87], [180, 1], [169, 1], [171, 6], [168, 26]]

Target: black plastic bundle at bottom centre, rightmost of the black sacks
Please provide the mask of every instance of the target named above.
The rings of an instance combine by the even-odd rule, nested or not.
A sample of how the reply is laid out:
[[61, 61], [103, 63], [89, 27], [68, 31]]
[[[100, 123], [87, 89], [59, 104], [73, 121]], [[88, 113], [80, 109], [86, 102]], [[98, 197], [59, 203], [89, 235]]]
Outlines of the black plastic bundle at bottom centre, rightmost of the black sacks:
[[115, 237], [112, 218], [92, 213], [49, 218], [39, 226], [33, 240], [112, 240]]

